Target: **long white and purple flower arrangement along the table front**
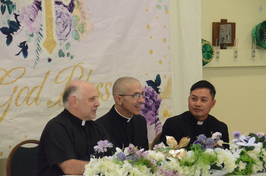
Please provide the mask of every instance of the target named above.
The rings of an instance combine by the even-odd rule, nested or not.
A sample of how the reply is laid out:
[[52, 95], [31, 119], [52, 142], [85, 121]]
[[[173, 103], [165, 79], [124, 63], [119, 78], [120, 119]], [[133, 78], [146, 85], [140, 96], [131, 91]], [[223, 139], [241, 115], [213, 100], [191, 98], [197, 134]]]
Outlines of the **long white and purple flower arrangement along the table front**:
[[[230, 150], [224, 149], [221, 133], [214, 133], [212, 138], [199, 135], [190, 151], [182, 147], [189, 138], [183, 138], [179, 144], [173, 137], [168, 136], [171, 145], [163, 143], [155, 145], [154, 150], [138, 150], [130, 144], [119, 149], [113, 156], [90, 159], [85, 166], [85, 176], [93, 175], [152, 175], [152, 176], [207, 176], [207, 175], [249, 175], [265, 172], [266, 168], [266, 139], [263, 133], [250, 133], [249, 136], [233, 133]], [[95, 151], [104, 152], [111, 143], [99, 142]], [[182, 151], [183, 151], [182, 150]], [[171, 153], [172, 151], [172, 153]]]

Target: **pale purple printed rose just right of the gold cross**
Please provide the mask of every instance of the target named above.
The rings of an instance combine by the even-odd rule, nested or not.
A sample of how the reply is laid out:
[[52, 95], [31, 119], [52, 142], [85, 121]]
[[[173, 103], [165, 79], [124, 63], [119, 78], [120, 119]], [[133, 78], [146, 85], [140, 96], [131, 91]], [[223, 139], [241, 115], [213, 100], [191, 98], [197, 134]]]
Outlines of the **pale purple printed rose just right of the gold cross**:
[[62, 5], [55, 5], [56, 11], [56, 37], [66, 41], [73, 30], [72, 14]]

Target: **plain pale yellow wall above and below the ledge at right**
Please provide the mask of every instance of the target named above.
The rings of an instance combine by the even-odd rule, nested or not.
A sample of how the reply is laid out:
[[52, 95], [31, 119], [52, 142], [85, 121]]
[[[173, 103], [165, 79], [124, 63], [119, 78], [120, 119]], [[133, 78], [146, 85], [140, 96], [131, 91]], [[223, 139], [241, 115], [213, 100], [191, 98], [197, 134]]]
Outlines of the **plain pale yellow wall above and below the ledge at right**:
[[[212, 22], [228, 19], [236, 22], [238, 48], [251, 49], [253, 27], [266, 20], [266, 1], [201, 0], [201, 12], [203, 39], [212, 41]], [[233, 131], [266, 133], [266, 66], [203, 67], [203, 79], [217, 90], [210, 114], [227, 124], [230, 137]]]

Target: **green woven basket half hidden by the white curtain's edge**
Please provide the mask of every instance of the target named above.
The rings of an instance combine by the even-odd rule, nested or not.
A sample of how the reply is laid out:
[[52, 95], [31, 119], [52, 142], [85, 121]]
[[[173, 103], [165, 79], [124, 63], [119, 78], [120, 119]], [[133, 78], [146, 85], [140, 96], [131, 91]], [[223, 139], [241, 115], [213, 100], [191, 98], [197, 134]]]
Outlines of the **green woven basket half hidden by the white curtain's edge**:
[[202, 66], [205, 66], [207, 63], [213, 60], [214, 48], [210, 42], [201, 39], [201, 49], [202, 49]]

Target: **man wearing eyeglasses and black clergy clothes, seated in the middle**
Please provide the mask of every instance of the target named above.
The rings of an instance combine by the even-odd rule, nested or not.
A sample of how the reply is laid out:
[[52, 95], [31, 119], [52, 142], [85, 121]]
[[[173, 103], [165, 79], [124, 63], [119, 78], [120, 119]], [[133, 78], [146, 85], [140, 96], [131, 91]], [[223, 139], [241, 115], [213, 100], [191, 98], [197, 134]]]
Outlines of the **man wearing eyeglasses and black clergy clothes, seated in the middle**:
[[144, 103], [142, 86], [137, 79], [122, 77], [113, 84], [115, 104], [96, 121], [103, 125], [113, 144], [120, 149], [133, 144], [138, 149], [149, 149], [147, 123], [140, 115]]

